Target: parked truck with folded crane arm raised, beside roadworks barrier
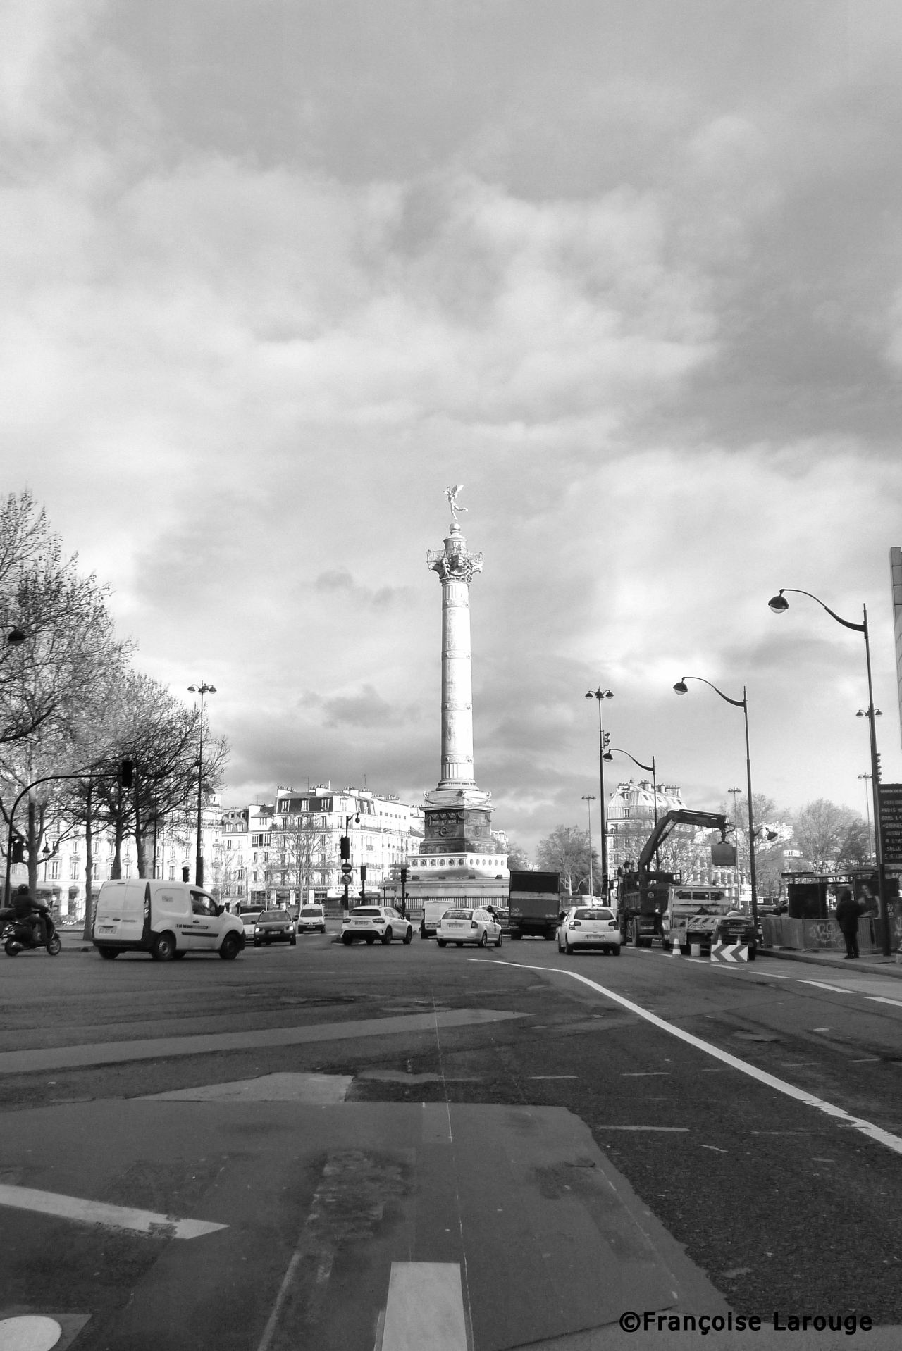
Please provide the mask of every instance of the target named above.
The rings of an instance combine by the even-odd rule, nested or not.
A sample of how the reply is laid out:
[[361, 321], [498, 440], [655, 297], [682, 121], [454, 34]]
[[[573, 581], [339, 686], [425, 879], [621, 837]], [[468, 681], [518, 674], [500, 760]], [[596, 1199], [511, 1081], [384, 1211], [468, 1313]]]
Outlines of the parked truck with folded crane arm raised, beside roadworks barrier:
[[721, 888], [683, 882], [680, 873], [650, 867], [675, 825], [718, 831], [721, 839], [711, 844], [711, 862], [721, 867], [736, 863], [736, 847], [726, 842], [728, 823], [722, 812], [695, 812], [684, 807], [665, 812], [642, 846], [636, 869], [618, 869], [617, 909], [623, 942], [634, 947], [650, 947], [656, 939], [663, 947], [679, 942], [684, 952], [698, 943], [710, 952], [711, 943], [719, 939], [746, 943], [753, 957], [755, 925], [730, 905]]

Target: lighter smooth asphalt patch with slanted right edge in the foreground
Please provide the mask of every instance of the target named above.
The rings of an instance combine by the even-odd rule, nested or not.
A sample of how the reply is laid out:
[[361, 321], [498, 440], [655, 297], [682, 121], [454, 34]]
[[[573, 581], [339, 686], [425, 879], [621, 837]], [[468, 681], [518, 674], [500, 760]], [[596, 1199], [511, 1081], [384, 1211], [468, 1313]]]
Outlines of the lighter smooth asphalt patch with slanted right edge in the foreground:
[[130, 1351], [373, 1351], [377, 1337], [407, 1351], [433, 1305], [418, 1351], [507, 1351], [615, 1324], [625, 1308], [726, 1309], [563, 1108], [322, 1105], [273, 1100], [272, 1084], [254, 1098], [226, 1088], [16, 1113], [4, 1177], [27, 1139], [34, 1190], [115, 1205], [135, 1179], [135, 1208], [151, 1194], [169, 1216], [193, 1186], [188, 1213], [210, 1227], [191, 1243], [165, 1229], [99, 1239], [88, 1216], [4, 1208], [20, 1312], [61, 1246], [45, 1306], [27, 1312], [91, 1313], [99, 1346]]

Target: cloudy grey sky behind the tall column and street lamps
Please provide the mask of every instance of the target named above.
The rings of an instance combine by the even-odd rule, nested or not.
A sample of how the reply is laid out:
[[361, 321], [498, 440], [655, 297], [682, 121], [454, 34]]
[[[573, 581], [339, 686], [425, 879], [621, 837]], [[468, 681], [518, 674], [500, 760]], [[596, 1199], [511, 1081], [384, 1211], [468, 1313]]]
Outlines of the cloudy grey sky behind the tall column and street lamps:
[[[531, 847], [606, 725], [696, 807], [902, 778], [897, 0], [7, 0], [0, 455], [231, 742], [226, 800], [476, 771]], [[629, 762], [619, 758], [613, 780]]]

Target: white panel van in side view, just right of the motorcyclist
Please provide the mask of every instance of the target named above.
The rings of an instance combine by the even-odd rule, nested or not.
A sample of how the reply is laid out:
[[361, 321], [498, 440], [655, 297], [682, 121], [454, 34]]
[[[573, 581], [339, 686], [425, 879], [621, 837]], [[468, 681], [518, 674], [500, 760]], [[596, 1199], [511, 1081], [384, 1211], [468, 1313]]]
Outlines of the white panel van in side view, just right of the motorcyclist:
[[245, 946], [245, 928], [199, 886], [134, 877], [100, 888], [93, 946], [108, 959], [150, 952], [157, 962], [169, 962], [185, 952], [219, 952], [231, 961]]

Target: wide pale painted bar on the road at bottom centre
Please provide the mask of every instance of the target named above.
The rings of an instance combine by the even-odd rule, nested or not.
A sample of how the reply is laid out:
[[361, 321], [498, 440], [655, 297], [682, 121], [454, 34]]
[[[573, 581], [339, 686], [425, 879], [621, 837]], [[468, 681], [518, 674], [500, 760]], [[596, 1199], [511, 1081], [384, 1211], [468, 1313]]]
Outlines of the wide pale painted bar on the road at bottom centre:
[[457, 1262], [392, 1262], [381, 1351], [467, 1351]]

